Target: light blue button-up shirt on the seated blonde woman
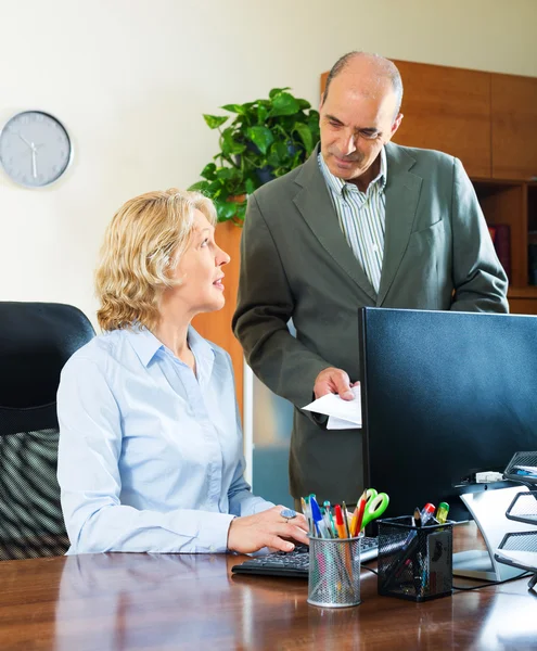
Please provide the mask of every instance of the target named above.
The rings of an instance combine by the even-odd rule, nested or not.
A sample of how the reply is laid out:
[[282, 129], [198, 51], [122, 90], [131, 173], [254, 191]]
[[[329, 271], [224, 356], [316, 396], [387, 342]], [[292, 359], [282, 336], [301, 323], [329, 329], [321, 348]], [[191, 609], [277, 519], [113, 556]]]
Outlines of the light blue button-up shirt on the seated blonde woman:
[[229, 355], [189, 329], [196, 373], [149, 330], [94, 337], [57, 393], [67, 553], [222, 552], [234, 515], [273, 505], [243, 477]]

